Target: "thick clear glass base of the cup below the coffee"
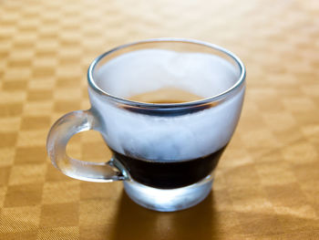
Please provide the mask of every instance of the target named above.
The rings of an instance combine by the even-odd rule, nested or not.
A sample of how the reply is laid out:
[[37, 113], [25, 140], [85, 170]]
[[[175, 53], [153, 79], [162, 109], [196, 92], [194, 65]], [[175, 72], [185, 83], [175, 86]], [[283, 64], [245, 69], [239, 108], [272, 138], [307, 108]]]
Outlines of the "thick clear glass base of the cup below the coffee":
[[129, 198], [141, 206], [159, 212], [174, 212], [201, 203], [211, 192], [212, 181], [213, 178], [209, 175], [199, 183], [168, 190], [126, 181], [124, 189]]

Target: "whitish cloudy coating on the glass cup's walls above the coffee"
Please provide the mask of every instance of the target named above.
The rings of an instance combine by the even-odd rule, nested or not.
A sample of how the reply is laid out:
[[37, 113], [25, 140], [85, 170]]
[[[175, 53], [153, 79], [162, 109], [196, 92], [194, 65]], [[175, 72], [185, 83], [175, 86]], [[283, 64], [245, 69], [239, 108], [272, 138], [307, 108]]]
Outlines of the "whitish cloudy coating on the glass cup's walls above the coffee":
[[[232, 87], [240, 73], [225, 59], [201, 53], [149, 49], [124, 54], [98, 68], [100, 89], [119, 98], [173, 87], [208, 98]], [[231, 99], [175, 117], [123, 110], [89, 90], [108, 146], [132, 157], [180, 162], [220, 150], [232, 137], [242, 110], [244, 88]]]

